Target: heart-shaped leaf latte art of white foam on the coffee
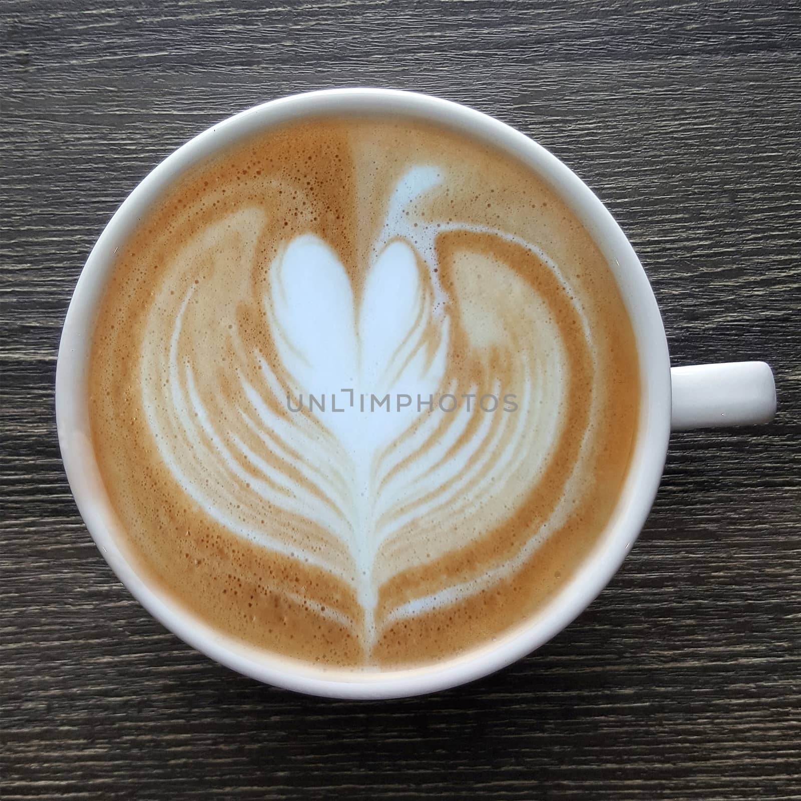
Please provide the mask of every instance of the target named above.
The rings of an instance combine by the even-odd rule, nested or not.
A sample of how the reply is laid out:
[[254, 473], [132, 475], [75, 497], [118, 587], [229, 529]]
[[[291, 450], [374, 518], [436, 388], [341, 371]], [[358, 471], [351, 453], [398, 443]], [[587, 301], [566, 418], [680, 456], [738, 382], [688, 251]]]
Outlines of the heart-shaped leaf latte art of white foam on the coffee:
[[[341, 586], [272, 590], [365, 653], [531, 559], [571, 512], [598, 413], [578, 383], [594, 370], [586, 317], [557, 265], [497, 228], [423, 219], [442, 180], [402, 175], [364, 264], [311, 230], [265, 248], [264, 207], [230, 211], [165, 266], [139, 360], [175, 481], [235, 537]], [[223, 295], [236, 312], [215, 320]], [[210, 342], [218, 356], [199, 360]]]

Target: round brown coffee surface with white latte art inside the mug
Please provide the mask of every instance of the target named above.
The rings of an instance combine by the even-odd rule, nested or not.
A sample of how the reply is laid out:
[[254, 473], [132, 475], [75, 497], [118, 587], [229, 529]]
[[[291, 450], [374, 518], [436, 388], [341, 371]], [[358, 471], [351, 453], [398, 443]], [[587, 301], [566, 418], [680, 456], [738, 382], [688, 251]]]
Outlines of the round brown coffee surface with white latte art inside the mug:
[[614, 276], [558, 196], [370, 116], [184, 175], [119, 250], [89, 393], [137, 569], [223, 634], [364, 670], [536, 614], [610, 520], [640, 402]]

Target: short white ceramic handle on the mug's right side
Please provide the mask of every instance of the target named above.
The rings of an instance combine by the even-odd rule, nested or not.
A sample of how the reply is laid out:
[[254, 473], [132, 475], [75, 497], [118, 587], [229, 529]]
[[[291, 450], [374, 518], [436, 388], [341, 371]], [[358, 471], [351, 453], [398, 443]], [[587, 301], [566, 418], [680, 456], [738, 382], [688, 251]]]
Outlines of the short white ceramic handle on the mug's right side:
[[776, 413], [773, 372], [763, 361], [674, 367], [670, 383], [674, 431], [769, 423]]

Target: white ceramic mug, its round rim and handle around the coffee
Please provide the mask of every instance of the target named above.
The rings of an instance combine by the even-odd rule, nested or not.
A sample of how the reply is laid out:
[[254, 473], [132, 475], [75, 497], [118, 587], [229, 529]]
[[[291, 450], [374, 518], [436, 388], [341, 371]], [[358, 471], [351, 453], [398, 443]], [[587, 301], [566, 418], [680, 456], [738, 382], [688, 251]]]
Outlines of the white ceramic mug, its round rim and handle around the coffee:
[[[642, 376], [640, 429], [618, 505], [593, 553], [562, 590], [532, 618], [488, 646], [411, 670], [365, 673], [321, 670], [265, 654], [212, 629], [159, 594], [127, 561], [91, 448], [87, 363], [95, 312], [116, 249], [159, 195], [201, 159], [239, 138], [308, 115], [360, 111], [411, 115], [455, 127], [501, 147], [541, 175], [594, 236], [609, 261], [629, 311]], [[263, 682], [340, 698], [393, 698], [469, 682], [529, 654], [567, 626], [606, 586], [637, 538], [654, 501], [671, 426], [743, 425], [775, 413], [771, 369], [763, 362], [670, 369], [665, 331], [654, 293], [634, 250], [600, 200], [555, 156], [525, 135], [478, 111], [426, 95], [380, 89], [342, 89], [264, 103], [211, 127], [179, 147], [119, 207], [100, 235], [75, 288], [61, 338], [56, 417], [66, 475], [87, 528], [119, 579], [164, 626], [204, 654]]]

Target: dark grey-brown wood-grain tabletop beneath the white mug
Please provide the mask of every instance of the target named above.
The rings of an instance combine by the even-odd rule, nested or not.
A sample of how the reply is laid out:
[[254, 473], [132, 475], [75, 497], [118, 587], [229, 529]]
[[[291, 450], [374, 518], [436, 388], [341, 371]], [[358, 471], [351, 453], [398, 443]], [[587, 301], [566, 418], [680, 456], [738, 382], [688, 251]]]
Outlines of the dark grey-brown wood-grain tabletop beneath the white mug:
[[[801, 798], [797, 4], [2, 13], [5, 801]], [[630, 236], [674, 363], [764, 358], [779, 391], [767, 428], [674, 436], [642, 537], [568, 630], [398, 702], [261, 686], [163, 630], [78, 517], [53, 409], [70, 293], [135, 183], [232, 112], [352, 85], [468, 103], [549, 147]]]

